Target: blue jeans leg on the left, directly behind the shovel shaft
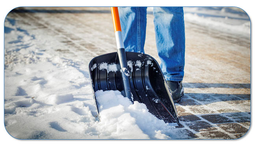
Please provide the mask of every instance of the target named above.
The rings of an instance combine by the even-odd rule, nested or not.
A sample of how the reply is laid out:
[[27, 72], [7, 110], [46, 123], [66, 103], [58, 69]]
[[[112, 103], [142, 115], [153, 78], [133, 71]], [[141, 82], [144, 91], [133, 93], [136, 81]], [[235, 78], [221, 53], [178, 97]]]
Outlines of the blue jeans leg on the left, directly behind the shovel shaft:
[[147, 7], [119, 7], [118, 9], [125, 50], [144, 53]]

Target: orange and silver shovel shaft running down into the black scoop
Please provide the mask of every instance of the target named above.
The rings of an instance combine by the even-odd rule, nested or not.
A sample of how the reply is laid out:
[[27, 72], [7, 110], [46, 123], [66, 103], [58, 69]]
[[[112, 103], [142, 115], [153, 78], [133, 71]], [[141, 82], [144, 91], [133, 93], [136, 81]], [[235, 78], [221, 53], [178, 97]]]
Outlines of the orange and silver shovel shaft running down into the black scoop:
[[132, 94], [131, 94], [130, 74], [128, 71], [124, 43], [122, 40], [118, 8], [111, 7], [111, 13], [112, 13], [113, 24], [114, 24], [114, 29], [115, 29], [115, 38], [117, 41], [117, 54], [118, 54], [118, 58], [120, 61], [120, 66], [121, 66], [120, 71], [122, 74], [122, 81], [123, 81], [123, 85], [124, 85], [124, 96], [128, 97], [128, 99], [130, 99], [130, 101], [132, 101], [132, 103], [134, 103], [134, 101], [132, 99]]

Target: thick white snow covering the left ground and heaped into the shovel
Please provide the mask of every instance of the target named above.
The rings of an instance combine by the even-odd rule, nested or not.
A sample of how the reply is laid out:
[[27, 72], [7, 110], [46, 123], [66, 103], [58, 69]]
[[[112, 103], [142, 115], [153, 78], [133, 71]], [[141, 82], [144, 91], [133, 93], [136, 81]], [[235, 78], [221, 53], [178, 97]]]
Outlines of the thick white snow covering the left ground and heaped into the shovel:
[[[91, 80], [81, 62], [39, 47], [39, 40], [8, 21], [5, 25], [13, 28], [5, 34], [4, 123], [10, 135], [18, 139], [174, 138], [169, 136], [173, 126], [150, 114], [144, 104], [132, 104], [119, 91], [95, 93], [98, 121]], [[17, 38], [20, 41], [9, 43]], [[100, 64], [100, 69], [117, 71], [115, 64], [108, 63]]]

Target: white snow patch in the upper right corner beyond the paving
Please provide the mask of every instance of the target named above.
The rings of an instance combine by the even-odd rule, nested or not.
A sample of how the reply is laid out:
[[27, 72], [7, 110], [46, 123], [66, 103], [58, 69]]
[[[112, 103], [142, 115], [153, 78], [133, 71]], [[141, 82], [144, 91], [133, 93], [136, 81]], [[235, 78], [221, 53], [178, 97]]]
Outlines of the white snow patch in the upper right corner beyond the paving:
[[250, 18], [237, 7], [184, 7], [184, 19], [222, 32], [250, 34]]

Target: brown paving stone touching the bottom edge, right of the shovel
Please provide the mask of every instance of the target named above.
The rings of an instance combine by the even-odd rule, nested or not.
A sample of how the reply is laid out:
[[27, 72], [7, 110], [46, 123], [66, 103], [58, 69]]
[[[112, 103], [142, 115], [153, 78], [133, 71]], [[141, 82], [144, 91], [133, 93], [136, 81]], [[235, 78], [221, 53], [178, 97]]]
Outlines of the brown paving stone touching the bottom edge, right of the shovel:
[[206, 137], [206, 139], [232, 139], [232, 137], [220, 131], [202, 132], [200, 135]]

